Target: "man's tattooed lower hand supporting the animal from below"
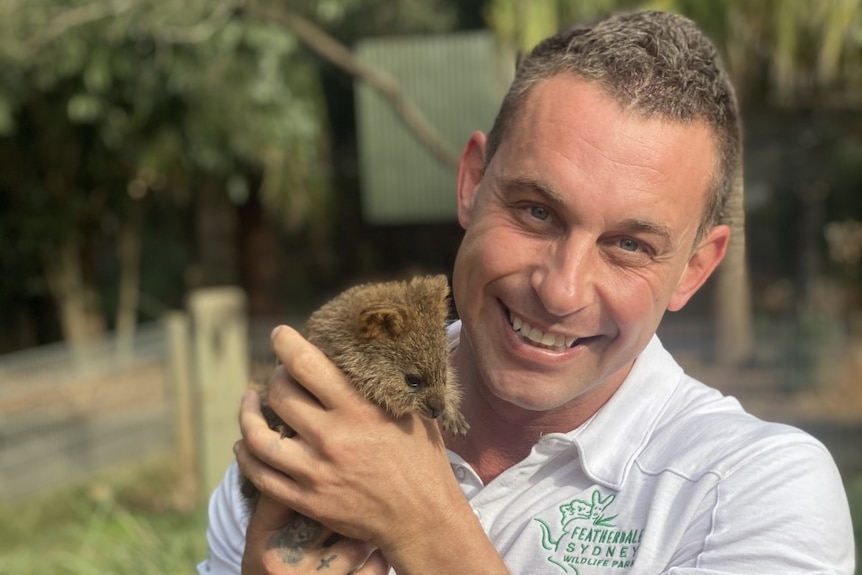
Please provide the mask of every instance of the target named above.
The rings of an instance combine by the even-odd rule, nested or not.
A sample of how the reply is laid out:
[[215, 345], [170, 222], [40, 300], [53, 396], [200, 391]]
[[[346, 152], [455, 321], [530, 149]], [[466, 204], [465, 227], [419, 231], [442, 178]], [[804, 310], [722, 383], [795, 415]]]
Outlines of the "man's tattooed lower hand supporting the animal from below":
[[[240, 448], [241, 449], [241, 448]], [[243, 575], [386, 575], [380, 552], [362, 541], [338, 538], [320, 523], [261, 495], [246, 531]], [[364, 564], [363, 564], [364, 563]]]

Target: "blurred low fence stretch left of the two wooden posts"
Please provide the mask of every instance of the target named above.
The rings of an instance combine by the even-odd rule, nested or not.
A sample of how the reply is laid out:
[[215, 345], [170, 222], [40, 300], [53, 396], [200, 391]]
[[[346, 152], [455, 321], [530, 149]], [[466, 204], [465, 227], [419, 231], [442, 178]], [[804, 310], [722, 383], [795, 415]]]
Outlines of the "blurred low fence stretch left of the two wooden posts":
[[64, 345], [2, 357], [0, 497], [173, 445], [163, 326], [141, 326], [128, 351], [109, 339], [83, 357]]

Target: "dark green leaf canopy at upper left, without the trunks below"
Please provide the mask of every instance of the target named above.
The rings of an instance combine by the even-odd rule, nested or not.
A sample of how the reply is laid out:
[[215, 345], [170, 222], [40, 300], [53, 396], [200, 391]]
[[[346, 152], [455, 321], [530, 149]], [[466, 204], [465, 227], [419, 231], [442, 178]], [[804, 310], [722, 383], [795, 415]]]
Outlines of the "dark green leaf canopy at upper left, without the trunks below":
[[[228, 177], [243, 165], [266, 169], [276, 154], [295, 174], [291, 183], [305, 184], [279, 186], [277, 193], [319, 200], [320, 158], [291, 162], [297, 148], [321, 148], [314, 69], [292, 36], [243, 20], [237, 8], [202, 1], [22, 2], [0, 25], [0, 62], [18, 78], [0, 89], [0, 102], [20, 110], [34, 94], [56, 94], [53, 104], [65, 107], [66, 121], [93, 125], [116, 156], [106, 168], [122, 170], [127, 181], [144, 168], [169, 180], [190, 169]], [[0, 118], [2, 111], [0, 105]]]

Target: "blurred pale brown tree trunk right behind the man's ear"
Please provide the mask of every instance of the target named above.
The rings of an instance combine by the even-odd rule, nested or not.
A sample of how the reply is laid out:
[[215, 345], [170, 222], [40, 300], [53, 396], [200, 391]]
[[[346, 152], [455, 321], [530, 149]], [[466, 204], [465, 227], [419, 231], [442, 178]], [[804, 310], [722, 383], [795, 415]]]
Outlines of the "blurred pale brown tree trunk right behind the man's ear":
[[717, 271], [715, 322], [716, 359], [730, 366], [747, 362], [754, 347], [751, 286], [745, 257], [745, 202], [742, 162], [727, 201], [724, 223], [730, 244]]

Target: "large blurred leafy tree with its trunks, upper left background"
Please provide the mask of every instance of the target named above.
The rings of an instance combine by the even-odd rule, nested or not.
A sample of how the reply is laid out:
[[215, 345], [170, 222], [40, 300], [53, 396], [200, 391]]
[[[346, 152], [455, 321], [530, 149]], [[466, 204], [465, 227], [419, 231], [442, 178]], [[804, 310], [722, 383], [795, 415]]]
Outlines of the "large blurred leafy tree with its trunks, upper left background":
[[325, 222], [313, 63], [281, 27], [237, 17], [241, 5], [0, 6], [0, 257], [4, 271], [27, 274], [0, 297], [44, 285], [70, 343], [105, 325], [94, 247], [106, 238], [123, 272], [118, 326], [133, 329], [141, 214], [152, 202], [195, 206], [196, 283], [236, 280], [235, 257], [225, 261], [232, 205], [252, 192], [289, 228]]

